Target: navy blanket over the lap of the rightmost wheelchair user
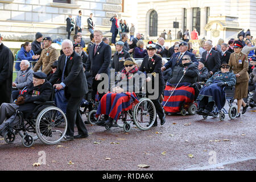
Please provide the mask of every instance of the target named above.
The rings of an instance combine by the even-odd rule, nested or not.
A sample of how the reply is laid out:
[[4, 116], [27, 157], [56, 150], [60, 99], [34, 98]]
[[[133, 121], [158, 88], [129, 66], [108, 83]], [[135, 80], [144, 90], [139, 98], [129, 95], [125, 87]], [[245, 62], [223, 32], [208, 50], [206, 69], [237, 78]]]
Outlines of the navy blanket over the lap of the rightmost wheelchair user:
[[219, 80], [213, 80], [212, 84], [209, 86], [204, 86], [199, 96], [197, 97], [197, 103], [200, 106], [200, 101], [203, 100], [204, 97], [209, 97], [208, 102], [214, 102], [217, 106], [218, 110], [221, 110], [226, 103], [226, 95], [223, 90], [223, 87], [217, 85], [220, 82]]

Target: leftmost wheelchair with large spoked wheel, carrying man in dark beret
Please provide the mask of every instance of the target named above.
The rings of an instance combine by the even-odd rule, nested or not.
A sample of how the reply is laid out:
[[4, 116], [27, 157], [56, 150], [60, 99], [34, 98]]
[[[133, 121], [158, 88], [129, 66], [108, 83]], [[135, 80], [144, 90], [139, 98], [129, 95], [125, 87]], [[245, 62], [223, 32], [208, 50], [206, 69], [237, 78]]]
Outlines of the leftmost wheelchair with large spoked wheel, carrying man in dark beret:
[[22, 144], [25, 147], [31, 147], [37, 139], [45, 144], [56, 144], [64, 138], [68, 126], [67, 118], [64, 112], [55, 106], [54, 89], [51, 101], [34, 104], [36, 107], [30, 117], [26, 118], [22, 111], [16, 110], [15, 117], [19, 117], [19, 123], [6, 123], [6, 143], [13, 143], [16, 134], [22, 137]]

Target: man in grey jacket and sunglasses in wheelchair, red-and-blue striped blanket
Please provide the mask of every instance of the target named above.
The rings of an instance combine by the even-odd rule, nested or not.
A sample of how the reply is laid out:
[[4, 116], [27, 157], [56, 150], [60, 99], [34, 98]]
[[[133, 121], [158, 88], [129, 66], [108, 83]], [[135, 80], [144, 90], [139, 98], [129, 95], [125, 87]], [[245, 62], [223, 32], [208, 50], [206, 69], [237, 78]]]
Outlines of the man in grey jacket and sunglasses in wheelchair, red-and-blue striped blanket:
[[[112, 86], [112, 92], [106, 93], [101, 98], [100, 105], [97, 109], [96, 117], [99, 117], [99, 115], [104, 115], [104, 119], [96, 122], [96, 125], [105, 126], [106, 129], [110, 129], [113, 126], [114, 121], [116, 125], [117, 120], [124, 111], [127, 111], [129, 115], [132, 115], [132, 112], [134, 111], [134, 106], [138, 106], [139, 103], [142, 104], [142, 102], [140, 102], [141, 100], [138, 99], [135, 92], [138, 93], [141, 90], [143, 83], [146, 80], [146, 75], [138, 71], [137, 65], [133, 58], [127, 58], [124, 62], [124, 65], [125, 68], [123, 68], [121, 73], [119, 73], [118, 75], [118, 81], [116, 81], [114, 86]], [[146, 105], [144, 107], [154, 106], [154, 104], [152, 104], [150, 100], [147, 100], [147, 98], [143, 98], [143, 100], [143, 106]], [[145, 109], [142, 107], [139, 108], [140, 109], [137, 109], [137, 111], [139, 110], [138, 113], [141, 113], [141, 111]], [[155, 118], [155, 110], [153, 114], [153, 117]], [[151, 114], [149, 113], [147, 115]], [[127, 118], [124, 118], [124, 122], [126, 121], [126, 119]], [[133, 118], [132, 121], [137, 122], [139, 119]], [[148, 121], [147, 123], [150, 123], [149, 125], [152, 126], [152, 117], [150, 121]], [[127, 126], [130, 128], [130, 125]], [[143, 127], [139, 125], [139, 129], [146, 130], [148, 128], [148, 126]]]

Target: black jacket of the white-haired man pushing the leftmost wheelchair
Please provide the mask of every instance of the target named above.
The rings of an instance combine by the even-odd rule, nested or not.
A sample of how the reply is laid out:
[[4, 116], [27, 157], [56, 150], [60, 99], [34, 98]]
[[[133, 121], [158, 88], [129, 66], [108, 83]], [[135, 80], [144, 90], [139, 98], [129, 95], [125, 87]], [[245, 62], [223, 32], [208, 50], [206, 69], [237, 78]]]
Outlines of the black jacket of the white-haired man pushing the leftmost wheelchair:
[[[58, 59], [58, 66], [56, 72], [51, 77], [51, 84], [61, 79], [64, 70], [66, 56], [63, 54]], [[64, 80], [62, 82], [66, 85], [64, 88], [65, 96], [81, 97], [88, 93], [88, 86], [85, 73], [82, 69], [82, 58], [75, 51], [67, 60], [67, 65], [64, 72]]]

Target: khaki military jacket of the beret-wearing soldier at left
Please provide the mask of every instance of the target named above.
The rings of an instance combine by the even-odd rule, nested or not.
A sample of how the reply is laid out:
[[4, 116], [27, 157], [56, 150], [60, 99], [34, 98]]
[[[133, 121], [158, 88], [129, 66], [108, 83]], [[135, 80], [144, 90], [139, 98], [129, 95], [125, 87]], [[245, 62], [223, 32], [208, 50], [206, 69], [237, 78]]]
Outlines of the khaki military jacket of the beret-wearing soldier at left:
[[52, 71], [51, 65], [58, 59], [59, 53], [53, 47], [43, 49], [38, 62], [36, 63], [33, 71], [36, 72], [42, 66], [42, 72], [50, 73]]

